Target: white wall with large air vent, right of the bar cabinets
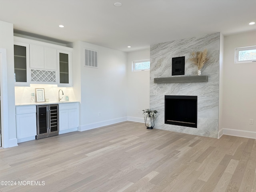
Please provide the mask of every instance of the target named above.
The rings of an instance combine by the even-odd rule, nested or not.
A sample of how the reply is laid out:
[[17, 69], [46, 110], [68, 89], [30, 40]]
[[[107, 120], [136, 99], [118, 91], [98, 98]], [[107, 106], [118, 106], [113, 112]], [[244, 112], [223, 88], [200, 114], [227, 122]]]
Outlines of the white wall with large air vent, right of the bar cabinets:
[[[81, 96], [79, 130], [126, 120], [126, 53], [86, 42], [73, 48], [79, 52], [73, 58], [74, 93]], [[84, 67], [84, 48], [98, 51], [98, 68]]]

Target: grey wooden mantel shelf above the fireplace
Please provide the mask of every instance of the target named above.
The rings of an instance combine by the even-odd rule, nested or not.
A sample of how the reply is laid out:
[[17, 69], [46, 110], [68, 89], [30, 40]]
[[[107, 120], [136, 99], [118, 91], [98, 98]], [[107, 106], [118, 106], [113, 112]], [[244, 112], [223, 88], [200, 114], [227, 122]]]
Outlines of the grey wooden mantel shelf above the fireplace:
[[184, 76], [154, 78], [154, 83], [197, 83], [208, 82], [208, 76]]

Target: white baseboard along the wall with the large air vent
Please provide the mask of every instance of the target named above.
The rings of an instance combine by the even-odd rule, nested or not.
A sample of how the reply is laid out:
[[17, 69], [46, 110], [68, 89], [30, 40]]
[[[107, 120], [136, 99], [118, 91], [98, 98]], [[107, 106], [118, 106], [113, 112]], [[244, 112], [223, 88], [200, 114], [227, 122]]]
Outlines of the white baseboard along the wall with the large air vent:
[[111, 119], [111, 120], [106, 120], [106, 121], [100, 121], [100, 122], [96, 122], [96, 123], [92, 123], [92, 124], [79, 126], [78, 131], [86, 131], [86, 130], [90, 130], [90, 129], [95, 129], [95, 128], [99, 128], [99, 127], [103, 127], [103, 126], [112, 125], [115, 123], [124, 122], [124, 121], [127, 121], [127, 117], [121, 117], [121, 118], [116, 118], [116, 119]]

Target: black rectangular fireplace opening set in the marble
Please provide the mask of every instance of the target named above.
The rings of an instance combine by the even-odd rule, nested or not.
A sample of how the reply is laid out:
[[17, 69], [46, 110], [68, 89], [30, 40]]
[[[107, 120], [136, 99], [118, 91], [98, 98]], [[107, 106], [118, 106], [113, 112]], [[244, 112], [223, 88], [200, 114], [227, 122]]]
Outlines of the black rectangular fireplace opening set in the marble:
[[164, 123], [197, 128], [197, 96], [164, 96]]

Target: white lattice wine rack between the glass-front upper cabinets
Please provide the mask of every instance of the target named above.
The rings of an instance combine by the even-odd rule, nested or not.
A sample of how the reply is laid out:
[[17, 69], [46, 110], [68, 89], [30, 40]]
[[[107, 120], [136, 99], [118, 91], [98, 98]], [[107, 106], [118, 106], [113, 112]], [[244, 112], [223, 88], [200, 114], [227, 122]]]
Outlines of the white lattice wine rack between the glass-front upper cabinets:
[[56, 82], [56, 71], [31, 70], [31, 82]]

